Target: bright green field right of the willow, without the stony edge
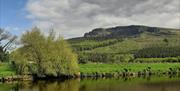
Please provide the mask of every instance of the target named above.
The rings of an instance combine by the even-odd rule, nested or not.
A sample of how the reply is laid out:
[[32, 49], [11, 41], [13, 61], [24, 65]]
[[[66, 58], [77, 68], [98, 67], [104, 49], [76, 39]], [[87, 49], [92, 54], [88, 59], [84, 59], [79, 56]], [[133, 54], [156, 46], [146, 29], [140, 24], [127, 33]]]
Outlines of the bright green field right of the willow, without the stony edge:
[[147, 67], [151, 67], [153, 72], [165, 72], [169, 68], [180, 68], [180, 63], [80, 64], [80, 71], [83, 73], [111, 73], [122, 72], [126, 68], [131, 69], [132, 72], [138, 72], [143, 71]]

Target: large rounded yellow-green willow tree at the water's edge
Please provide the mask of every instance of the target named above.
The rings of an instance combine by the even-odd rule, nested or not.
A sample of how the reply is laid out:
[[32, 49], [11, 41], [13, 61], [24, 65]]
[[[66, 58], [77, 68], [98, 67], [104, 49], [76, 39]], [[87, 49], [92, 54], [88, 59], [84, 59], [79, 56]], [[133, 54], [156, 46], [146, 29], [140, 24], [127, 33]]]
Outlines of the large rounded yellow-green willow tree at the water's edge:
[[63, 38], [55, 37], [53, 31], [45, 36], [33, 28], [21, 37], [21, 43], [22, 47], [12, 53], [18, 73], [38, 77], [78, 74], [77, 55]]

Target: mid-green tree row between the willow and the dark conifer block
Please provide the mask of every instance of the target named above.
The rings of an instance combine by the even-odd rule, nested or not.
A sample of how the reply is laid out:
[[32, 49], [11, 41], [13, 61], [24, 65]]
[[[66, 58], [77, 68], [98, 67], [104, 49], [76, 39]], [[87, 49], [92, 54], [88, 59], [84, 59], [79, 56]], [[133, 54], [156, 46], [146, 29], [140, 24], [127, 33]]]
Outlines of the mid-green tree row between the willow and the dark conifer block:
[[124, 63], [134, 59], [132, 54], [118, 53], [78, 53], [79, 63]]

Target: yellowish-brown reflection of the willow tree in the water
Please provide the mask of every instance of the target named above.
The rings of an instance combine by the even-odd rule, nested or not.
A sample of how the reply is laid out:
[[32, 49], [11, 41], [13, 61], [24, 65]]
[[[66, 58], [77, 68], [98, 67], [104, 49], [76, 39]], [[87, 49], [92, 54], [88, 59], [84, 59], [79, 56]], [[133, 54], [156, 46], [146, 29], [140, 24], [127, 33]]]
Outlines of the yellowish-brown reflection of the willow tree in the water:
[[[38, 81], [21, 83], [17, 86], [22, 91], [79, 91], [78, 80]], [[14, 89], [15, 90], [15, 89]]]

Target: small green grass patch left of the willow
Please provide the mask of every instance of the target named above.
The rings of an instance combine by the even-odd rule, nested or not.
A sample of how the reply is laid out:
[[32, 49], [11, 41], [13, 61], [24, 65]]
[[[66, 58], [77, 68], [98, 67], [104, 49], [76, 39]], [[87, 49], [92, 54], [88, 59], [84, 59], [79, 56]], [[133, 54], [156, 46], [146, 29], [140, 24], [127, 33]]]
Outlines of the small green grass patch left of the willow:
[[9, 63], [0, 63], [0, 77], [15, 75], [15, 69]]

